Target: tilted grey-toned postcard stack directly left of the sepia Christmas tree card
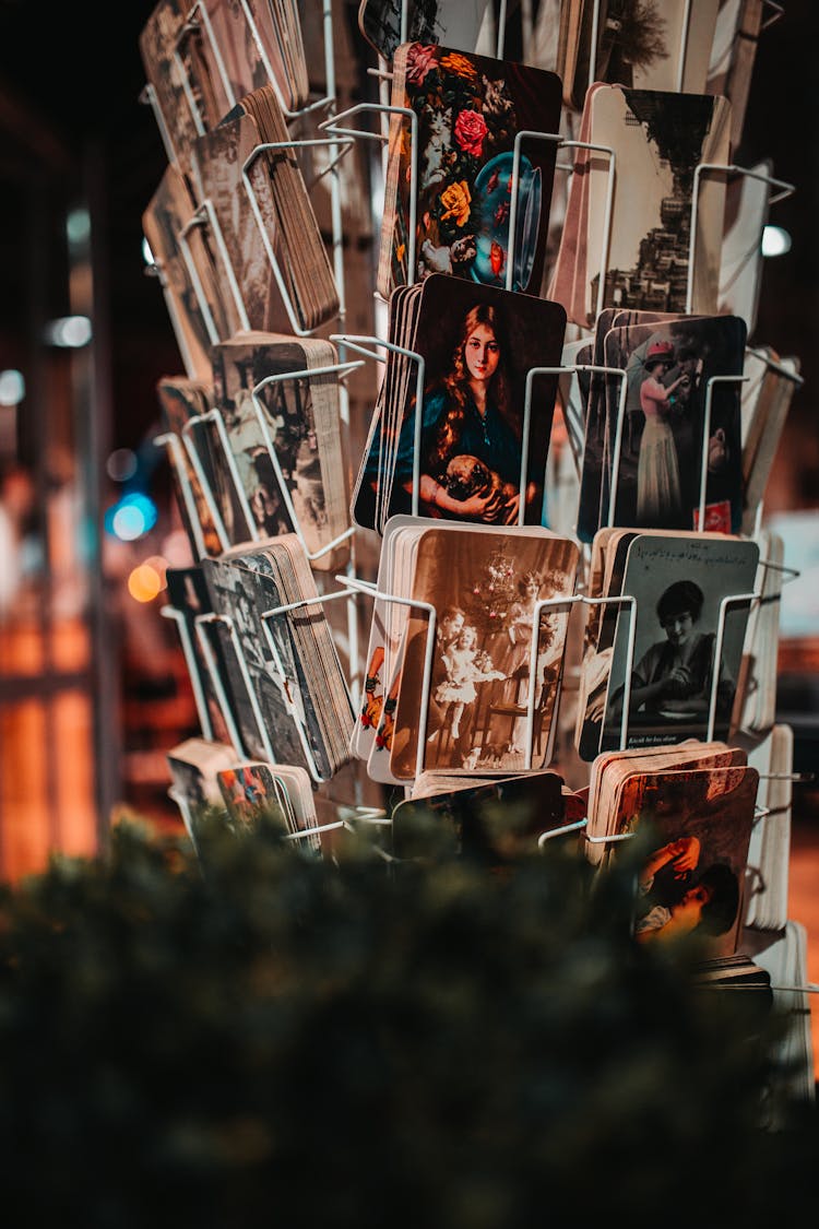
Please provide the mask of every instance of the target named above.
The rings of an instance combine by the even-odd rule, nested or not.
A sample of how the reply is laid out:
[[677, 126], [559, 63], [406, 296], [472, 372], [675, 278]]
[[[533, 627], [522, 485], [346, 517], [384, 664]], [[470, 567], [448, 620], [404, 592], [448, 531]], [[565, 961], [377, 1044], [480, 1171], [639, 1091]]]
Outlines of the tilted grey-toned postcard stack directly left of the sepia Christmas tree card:
[[350, 758], [354, 712], [301, 541], [285, 533], [247, 543], [201, 567], [242, 751], [329, 779]]

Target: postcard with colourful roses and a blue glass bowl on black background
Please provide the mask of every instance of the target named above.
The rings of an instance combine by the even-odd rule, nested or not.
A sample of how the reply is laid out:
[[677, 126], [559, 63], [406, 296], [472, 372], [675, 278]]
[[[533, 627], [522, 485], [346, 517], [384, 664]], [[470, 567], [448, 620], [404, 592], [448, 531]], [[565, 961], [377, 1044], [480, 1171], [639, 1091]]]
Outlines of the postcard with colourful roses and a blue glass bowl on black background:
[[[446, 273], [538, 295], [559, 144], [557, 75], [402, 43], [392, 106], [403, 111], [390, 119], [379, 293], [388, 299], [395, 286]], [[514, 177], [522, 132], [538, 135], [521, 139]]]

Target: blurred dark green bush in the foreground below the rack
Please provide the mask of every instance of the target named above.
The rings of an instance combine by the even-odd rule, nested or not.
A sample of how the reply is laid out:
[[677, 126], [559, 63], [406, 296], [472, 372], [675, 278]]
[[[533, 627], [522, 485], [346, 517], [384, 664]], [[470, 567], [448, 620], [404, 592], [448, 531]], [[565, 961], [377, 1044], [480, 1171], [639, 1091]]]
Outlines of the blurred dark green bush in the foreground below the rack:
[[[630, 936], [634, 869], [125, 820], [0, 900], [0, 1156], [20, 1220], [770, 1225], [810, 1107], [760, 1128], [780, 1024]], [[634, 858], [639, 857], [635, 849]], [[707, 1211], [706, 1211], [707, 1195]]]

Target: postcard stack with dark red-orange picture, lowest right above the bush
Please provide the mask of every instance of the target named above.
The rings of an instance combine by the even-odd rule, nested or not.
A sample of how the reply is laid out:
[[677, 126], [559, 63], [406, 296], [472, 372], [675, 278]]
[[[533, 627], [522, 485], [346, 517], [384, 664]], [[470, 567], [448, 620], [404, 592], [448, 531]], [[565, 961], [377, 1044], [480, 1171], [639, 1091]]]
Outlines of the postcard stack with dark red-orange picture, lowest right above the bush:
[[[602, 868], [629, 836], [647, 841], [639, 874], [640, 943], [696, 932], [704, 960], [739, 946], [759, 773], [743, 752], [685, 744], [666, 755], [600, 757], [589, 784], [587, 849]], [[609, 779], [611, 778], [611, 779]]]

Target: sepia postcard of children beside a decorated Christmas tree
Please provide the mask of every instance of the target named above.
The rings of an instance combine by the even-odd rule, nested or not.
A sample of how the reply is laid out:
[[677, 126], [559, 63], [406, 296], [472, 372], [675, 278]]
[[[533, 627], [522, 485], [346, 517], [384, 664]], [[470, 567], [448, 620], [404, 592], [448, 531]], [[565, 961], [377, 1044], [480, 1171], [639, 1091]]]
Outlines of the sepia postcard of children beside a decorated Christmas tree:
[[431, 656], [427, 613], [411, 611], [406, 624], [393, 773], [416, 775], [419, 735], [421, 768], [545, 767], [571, 603], [538, 602], [572, 596], [577, 544], [535, 526], [417, 532], [404, 591], [437, 619]]

